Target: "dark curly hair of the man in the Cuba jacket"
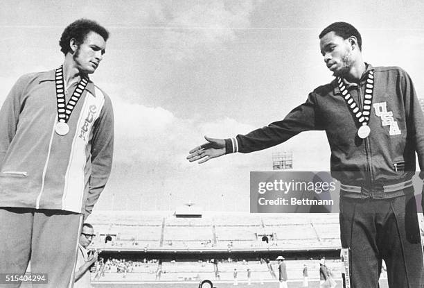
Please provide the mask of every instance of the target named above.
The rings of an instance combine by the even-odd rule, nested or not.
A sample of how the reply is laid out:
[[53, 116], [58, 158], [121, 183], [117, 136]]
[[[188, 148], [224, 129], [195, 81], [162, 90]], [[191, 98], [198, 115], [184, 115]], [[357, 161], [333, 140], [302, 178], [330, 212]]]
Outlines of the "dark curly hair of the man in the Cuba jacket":
[[98, 33], [102, 36], [105, 41], [109, 38], [109, 31], [105, 27], [100, 26], [97, 22], [89, 19], [78, 19], [72, 22], [64, 29], [62, 36], [60, 36], [60, 51], [67, 55], [68, 52], [72, 52], [69, 42], [71, 39], [75, 39], [78, 45], [84, 43], [85, 37], [91, 31]]

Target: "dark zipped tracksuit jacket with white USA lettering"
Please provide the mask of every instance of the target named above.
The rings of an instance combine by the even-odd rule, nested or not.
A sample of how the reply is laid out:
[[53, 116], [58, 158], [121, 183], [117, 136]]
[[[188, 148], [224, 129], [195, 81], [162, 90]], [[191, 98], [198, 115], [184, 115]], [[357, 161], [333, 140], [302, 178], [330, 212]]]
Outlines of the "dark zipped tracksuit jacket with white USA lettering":
[[[282, 121], [247, 135], [225, 139], [226, 153], [266, 149], [307, 130], [325, 130], [331, 149], [330, 169], [342, 183], [342, 195], [353, 198], [391, 198], [412, 187], [418, 161], [424, 164], [424, 117], [409, 75], [399, 67], [367, 65], [360, 83], [346, 88], [362, 110], [367, 72], [373, 70], [373, 99], [366, 139], [349, 110], [336, 79], [311, 92], [306, 103]], [[423, 172], [421, 172], [423, 173]], [[421, 175], [421, 178], [422, 175]]]

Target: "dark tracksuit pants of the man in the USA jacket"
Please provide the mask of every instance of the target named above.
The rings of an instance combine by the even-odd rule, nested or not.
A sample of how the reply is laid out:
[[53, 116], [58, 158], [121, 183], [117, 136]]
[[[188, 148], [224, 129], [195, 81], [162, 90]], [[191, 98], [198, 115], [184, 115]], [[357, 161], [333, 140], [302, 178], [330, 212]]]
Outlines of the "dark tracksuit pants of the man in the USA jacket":
[[340, 198], [342, 248], [350, 253], [351, 288], [377, 288], [382, 260], [389, 288], [422, 288], [423, 246], [414, 194]]

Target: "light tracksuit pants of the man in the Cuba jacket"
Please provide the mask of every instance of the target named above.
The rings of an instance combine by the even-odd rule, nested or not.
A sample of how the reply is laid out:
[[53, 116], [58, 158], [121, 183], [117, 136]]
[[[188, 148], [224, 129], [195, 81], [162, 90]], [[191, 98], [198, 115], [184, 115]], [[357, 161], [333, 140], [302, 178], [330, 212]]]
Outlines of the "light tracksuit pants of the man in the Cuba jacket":
[[[62, 210], [0, 207], [0, 273], [45, 273], [47, 284], [73, 286], [82, 214]], [[0, 283], [19, 287], [20, 283]]]

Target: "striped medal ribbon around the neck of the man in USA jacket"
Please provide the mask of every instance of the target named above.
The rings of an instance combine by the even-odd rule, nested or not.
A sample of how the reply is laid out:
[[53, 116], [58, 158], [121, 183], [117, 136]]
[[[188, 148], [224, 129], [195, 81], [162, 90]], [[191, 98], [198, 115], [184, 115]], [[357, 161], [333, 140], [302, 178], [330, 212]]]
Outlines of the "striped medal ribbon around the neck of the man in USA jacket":
[[362, 125], [368, 125], [369, 115], [371, 112], [371, 103], [373, 102], [373, 89], [374, 89], [374, 73], [373, 71], [368, 72], [368, 78], [366, 79], [365, 96], [364, 96], [364, 107], [363, 111], [360, 111], [359, 106], [353, 100], [351, 94], [346, 89], [342, 78], [337, 77], [337, 83], [339, 85], [340, 92], [342, 92], [343, 98], [348, 105], [349, 110], [355, 115], [357, 121]]

